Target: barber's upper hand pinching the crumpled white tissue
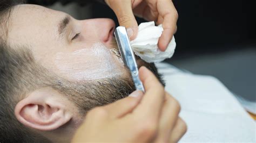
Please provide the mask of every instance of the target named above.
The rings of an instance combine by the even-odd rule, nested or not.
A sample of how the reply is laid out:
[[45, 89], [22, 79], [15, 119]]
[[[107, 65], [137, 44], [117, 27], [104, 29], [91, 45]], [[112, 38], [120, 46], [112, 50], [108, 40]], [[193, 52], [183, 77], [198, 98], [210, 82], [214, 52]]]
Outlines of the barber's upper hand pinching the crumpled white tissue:
[[135, 39], [138, 33], [138, 24], [133, 12], [145, 20], [163, 24], [164, 31], [159, 38], [158, 47], [161, 51], [165, 51], [177, 30], [178, 13], [172, 0], [105, 0], [105, 2], [116, 13], [119, 25], [127, 28], [131, 40]]

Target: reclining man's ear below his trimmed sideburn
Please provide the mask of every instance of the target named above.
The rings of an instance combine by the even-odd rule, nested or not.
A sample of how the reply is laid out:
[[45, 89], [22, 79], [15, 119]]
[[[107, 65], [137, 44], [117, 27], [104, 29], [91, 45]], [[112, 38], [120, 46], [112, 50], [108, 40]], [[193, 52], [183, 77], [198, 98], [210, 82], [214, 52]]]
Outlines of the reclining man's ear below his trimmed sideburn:
[[52, 88], [38, 89], [16, 105], [15, 116], [25, 126], [42, 131], [55, 130], [73, 116], [67, 101]]

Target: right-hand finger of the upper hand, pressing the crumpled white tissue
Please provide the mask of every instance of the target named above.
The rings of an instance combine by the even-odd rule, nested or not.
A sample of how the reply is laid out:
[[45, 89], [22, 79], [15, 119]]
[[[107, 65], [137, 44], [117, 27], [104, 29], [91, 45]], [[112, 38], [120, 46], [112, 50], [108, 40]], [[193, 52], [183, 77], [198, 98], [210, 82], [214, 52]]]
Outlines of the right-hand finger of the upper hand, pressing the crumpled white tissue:
[[164, 31], [158, 41], [158, 47], [160, 51], [165, 51], [168, 44], [172, 39], [172, 35], [176, 31], [176, 24], [178, 20], [178, 13], [175, 9], [172, 1], [162, 0], [157, 3], [158, 12], [163, 17], [163, 28]]

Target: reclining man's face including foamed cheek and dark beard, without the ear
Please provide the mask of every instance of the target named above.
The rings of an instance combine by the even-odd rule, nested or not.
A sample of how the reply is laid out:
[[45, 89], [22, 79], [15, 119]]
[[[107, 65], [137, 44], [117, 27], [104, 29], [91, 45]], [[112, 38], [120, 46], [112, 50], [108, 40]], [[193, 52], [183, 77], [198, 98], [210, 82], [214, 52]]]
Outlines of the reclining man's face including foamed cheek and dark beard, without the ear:
[[[9, 25], [9, 45], [28, 47], [36, 63], [50, 71], [43, 74], [52, 82], [46, 86], [67, 96], [82, 115], [135, 90], [113, 40], [113, 20], [76, 20], [42, 6], [18, 5]], [[152, 64], [138, 57], [137, 63], [159, 77]]]

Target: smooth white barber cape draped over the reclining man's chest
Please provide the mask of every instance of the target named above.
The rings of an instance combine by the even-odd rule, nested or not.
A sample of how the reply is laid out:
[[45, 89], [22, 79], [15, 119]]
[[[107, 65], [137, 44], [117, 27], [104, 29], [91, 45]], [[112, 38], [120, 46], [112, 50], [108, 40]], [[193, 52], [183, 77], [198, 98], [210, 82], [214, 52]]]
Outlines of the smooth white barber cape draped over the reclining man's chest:
[[187, 133], [179, 142], [256, 142], [255, 121], [217, 78], [157, 64], [180, 105]]

